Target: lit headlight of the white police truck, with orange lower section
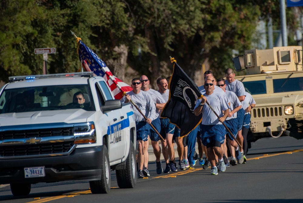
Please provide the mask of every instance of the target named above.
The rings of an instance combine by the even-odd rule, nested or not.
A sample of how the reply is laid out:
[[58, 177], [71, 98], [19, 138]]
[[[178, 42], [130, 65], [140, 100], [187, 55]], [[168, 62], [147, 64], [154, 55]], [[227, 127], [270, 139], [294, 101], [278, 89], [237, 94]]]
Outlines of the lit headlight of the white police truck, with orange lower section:
[[74, 144], [92, 144], [97, 142], [94, 123], [88, 122], [75, 124], [74, 138]]

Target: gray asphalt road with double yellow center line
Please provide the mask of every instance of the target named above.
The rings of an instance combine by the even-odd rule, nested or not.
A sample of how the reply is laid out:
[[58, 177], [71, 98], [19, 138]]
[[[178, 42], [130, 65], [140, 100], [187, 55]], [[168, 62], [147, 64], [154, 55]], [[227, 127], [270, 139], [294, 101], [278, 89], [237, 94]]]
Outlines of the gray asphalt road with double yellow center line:
[[[0, 188], [1, 202], [303, 202], [303, 140], [263, 138], [252, 143], [246, 164], [231, 166], [217, 176], [198, 163], [193, 170], [138, 179], [133, 189], [117, 188], [112, 173], [109, 194], [92, 195], [88, 182], [39, 183], [30, 195], [14, 197], [9, 186]], [[162, 164], [164, 167], [165, 164]]]

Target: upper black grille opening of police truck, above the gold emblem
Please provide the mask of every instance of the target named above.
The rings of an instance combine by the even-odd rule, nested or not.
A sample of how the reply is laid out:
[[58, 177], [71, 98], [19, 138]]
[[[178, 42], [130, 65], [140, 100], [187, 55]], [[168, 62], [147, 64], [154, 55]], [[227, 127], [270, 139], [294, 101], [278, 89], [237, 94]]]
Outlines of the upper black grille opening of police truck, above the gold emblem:
[[28, 138], [28, 137], [69, 136], [69, 135], [72, 135], [72, 127], [28, 129], [28, 130], [18, 130], [18, 131], [14, 130], [14, 131], [0, 132], [0, 140]]

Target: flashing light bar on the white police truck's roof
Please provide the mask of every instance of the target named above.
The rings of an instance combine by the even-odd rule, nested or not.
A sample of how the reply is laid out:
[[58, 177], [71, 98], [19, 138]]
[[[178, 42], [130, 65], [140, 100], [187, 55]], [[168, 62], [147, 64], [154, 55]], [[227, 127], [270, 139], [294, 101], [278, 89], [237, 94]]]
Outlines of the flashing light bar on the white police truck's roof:
[[20, 80], [36, 80], [41, 78], [55, 78], [55, 77], [93, 77], [94, 72], [78, 72], [78, 73], [57, 73], [47, 75], [30, 75], [30, 76], [11, 76], [8, 77], [9, 82]]

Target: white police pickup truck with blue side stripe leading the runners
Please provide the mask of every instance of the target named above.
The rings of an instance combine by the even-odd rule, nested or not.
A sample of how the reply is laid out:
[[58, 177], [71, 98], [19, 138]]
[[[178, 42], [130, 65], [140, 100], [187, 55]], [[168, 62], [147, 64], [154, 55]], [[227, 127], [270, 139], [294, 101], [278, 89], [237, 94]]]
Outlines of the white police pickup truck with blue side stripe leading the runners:
[[130, 104], [93, 72], [9, 77], [0, 90], [0, 184], [15, 196], [31, 184], [89, 181], [108, 193], [136, 184], [136, 128]]

